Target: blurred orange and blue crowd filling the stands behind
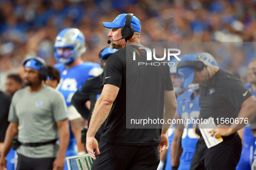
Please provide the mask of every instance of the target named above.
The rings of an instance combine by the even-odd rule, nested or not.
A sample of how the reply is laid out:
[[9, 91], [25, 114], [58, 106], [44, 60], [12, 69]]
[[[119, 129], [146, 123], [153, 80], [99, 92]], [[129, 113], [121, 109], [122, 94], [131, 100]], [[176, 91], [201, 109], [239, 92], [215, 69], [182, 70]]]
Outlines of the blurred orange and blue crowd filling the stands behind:
[[0, 89], [8, 73], [22, 71], [26, 58], [55, 64], [53, 44], [63, 28], [80, 29], [87, 47], [82, 59], [99, 63], [109, 40], [102, 22], [120, 13], [139, 18], [142, 44], [216, 42], [205, 52], [242, 78], [255, 57], [255, 0], [0, 0]]

